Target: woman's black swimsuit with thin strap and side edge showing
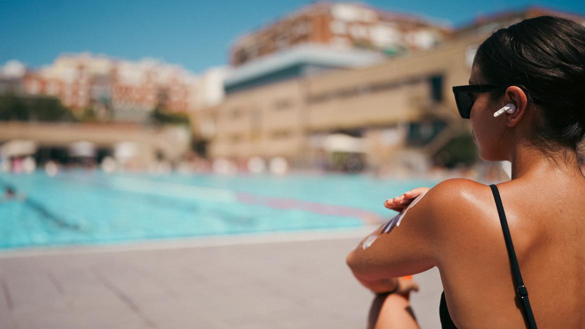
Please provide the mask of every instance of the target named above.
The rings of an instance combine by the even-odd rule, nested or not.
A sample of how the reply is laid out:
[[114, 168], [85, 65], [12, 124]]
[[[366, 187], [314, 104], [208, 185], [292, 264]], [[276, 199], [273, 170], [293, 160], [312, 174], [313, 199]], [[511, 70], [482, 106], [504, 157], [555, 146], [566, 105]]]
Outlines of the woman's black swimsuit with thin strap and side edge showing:
[[[524, 314], [524, 320], [526, 321], [526, 327], [536, 328], [536, 322], [534, 320], [534, 314], [528, 301], [528, 290], [524, 286], [522, 281], [522, 275], [520, 274], [520, 266], [518, 265], [518, 259], [516, 259], [516, 253], [514, 252], [514, 245], [512, 244], [512, 238], [510, 237], [510, 230], [508, 229], [508, 221], [504, 213], [504, 206], [502, 205], [502, 199], [500, 198], [500, 192], [497, 186], [494, 184], [490, 185], [491, 192], [494, 195], [495, 206], [498, 208], [498, 216], [500, 216], [500, 223], [502, 224], [502, 231], [504, 233], [504, 240], [506, 241], [506, 249], [508, 251], [508, 257], [510, 258], [510, 266], [512, 266], [512, 272], [514, 272], [514, 282], [516, 285], [516, 296], [522, 302], [522, 313]], [[445, 292], [441, 294], [441, 304], [439, 304], [439, 316], [441, 316], [441, 326], [443, 328], [457, 328], [451, 320], [449, 310], [447, 309], [447, 303], [445, 300]]]

